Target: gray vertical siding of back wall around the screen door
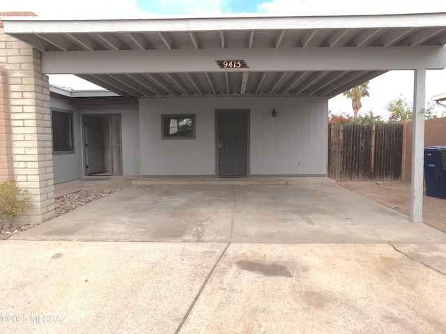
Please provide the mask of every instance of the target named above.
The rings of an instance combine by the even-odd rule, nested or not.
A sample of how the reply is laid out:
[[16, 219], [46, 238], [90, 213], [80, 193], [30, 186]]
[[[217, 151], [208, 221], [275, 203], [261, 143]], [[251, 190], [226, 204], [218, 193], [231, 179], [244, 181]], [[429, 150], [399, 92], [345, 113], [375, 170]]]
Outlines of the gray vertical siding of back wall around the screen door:
[[[139, 100], [141, 174], [215, 175], [215, 109], [250, 109], [252, 176], [327, 174], [326, 98], [246, 97]], [[162, 114], [196, 114], [196, 139], [161, 139]]]

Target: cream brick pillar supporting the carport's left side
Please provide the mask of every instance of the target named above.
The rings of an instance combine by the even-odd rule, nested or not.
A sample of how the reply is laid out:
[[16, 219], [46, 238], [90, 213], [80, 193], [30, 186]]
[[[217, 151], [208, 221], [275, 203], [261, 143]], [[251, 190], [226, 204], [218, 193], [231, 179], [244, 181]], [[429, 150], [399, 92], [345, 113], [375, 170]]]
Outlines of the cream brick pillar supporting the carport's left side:
[[[12, 149], [12, 159], [8, 160], [8, 152], [3, 151], [6, 157], [3, 160], [13, 163], [17, 184], [28, 190], [26, 197], [29, 197], [32, 207], [20, 219], [43, 222], [54, 216], [48, 77], [41, 72], [40, 51], [6, 35], [1, 22], [0, 67], [4, 73], [1, 77], [7, 78], [7, 84], [3, 82], [2, 89], [8, 98], [1, 101], [4, 103], [3, 111], [10, 116]], [[5, 107], [7, 105], [9, 107]], [[7, 132], [8, 129], [3, 131]], [[8, 136], [1, 136], [0, 133], [0, 142], [3, 138], [5, 145], [8, 145]]]

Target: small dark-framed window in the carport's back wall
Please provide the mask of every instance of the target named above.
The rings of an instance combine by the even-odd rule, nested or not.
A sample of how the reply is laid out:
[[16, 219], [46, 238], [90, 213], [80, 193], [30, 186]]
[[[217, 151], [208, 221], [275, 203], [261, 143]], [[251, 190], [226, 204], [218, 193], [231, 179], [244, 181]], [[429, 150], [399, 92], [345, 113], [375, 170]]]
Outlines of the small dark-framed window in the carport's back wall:
[[161, 115], [162, 139], [195, 139], [195, 115]]

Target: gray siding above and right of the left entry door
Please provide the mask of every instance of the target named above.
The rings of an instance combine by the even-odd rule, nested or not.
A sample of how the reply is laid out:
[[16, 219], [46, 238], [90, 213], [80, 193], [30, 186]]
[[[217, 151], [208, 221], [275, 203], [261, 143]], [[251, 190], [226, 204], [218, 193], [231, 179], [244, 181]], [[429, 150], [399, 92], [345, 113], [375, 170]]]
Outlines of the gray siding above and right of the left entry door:
[[138, 105], [80, 105], [81, 114], [121, 114], [123, 175], [139, 176]]

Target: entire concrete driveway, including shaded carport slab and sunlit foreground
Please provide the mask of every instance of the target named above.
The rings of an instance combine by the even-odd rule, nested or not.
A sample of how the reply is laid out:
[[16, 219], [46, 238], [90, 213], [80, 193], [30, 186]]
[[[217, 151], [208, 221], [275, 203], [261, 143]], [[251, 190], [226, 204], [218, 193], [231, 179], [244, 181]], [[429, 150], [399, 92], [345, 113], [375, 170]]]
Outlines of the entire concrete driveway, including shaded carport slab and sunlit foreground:
[[296, 183], [134, 184], [0, 242], [0, 332], [446, 333], [446, 235]]

